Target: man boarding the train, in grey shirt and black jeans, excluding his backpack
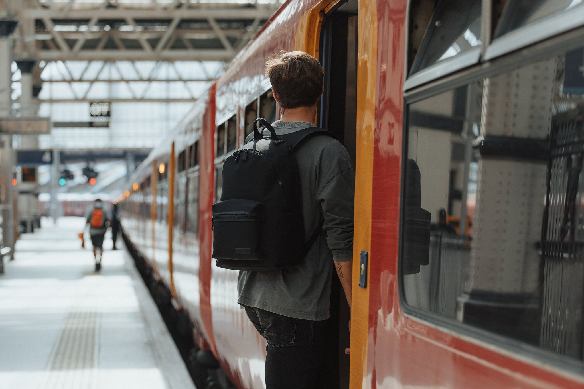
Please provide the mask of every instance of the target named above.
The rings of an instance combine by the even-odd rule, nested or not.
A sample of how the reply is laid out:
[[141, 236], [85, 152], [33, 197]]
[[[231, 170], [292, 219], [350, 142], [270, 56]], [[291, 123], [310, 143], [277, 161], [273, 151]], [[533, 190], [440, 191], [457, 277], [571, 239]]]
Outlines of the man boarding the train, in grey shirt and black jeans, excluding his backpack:
[[[324, 89], [324, 71], [317, 59], [301, 51], [282, 52], [267, 60], [266, 73], [280, 108], [280, 120], [272, 124], [276, 134], [315, 127], [317, 102]], [[238, 279], [238, 303], [267, 341], [266, 389], [314, 388], [335, 271], [351, 304], [352, 161], [343, 145], [328, 135], [313, 136], [294, 154], [304, 230], [314, 231], [324, 219], [321, 233], [296, 267], [240, 271]]]

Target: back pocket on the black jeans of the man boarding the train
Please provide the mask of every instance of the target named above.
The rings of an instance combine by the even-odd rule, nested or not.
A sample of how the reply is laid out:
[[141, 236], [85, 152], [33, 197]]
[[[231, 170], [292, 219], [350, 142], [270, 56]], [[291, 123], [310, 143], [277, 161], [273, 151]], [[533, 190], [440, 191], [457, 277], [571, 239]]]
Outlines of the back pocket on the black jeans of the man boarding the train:
[[[294, 344], [296, 318], [283, 316], [259, 308], [245, 307], [249, 320], [272, 347]], [[259, 321], [259, 328], [258, 328]]]

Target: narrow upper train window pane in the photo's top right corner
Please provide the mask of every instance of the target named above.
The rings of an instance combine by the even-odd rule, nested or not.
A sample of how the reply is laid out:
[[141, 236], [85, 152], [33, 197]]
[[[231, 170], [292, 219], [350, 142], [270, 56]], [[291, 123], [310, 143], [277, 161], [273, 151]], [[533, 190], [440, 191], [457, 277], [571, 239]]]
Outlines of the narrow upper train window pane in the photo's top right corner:
[[544, 17], [584, 6], [582, 0], [509, 0], [495, 29], [494, 38], [527, 26]]

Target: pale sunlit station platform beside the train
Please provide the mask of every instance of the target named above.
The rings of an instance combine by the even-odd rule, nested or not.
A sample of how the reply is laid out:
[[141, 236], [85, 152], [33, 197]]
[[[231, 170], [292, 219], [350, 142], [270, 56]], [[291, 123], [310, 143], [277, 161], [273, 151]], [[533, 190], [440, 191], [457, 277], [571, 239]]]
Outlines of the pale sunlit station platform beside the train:
[[44, 219], [0, 274], [2, 389], [195, 389], [118, 239], [94, 271], [83, 218]]

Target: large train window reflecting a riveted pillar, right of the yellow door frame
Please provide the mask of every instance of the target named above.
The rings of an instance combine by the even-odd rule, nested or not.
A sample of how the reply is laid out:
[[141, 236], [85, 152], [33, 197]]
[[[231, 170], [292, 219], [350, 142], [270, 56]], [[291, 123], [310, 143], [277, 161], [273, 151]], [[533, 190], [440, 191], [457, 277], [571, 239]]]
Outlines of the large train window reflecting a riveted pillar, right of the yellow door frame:
[[583, 58], [569, 52], [408, 107], [407, 304], [583, 358]]

